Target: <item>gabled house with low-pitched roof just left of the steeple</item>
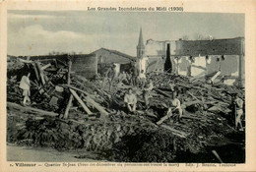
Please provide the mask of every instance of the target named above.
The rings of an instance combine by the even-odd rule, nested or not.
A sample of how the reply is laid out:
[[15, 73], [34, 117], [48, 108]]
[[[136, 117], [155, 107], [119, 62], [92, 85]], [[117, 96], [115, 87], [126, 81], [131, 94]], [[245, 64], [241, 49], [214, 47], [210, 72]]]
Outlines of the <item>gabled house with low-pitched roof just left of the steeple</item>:
[[136, 60], [135, 57], [130, 55], [105, 48], [100, 48], [91, 54], [95, 54], [97, 56], [97, 71], [100, 75], [104, 74], [107, 68], [112, 64], [115, 64], [116, 74], [120, 71], [128, 71], [131, 67], [131, 62]]

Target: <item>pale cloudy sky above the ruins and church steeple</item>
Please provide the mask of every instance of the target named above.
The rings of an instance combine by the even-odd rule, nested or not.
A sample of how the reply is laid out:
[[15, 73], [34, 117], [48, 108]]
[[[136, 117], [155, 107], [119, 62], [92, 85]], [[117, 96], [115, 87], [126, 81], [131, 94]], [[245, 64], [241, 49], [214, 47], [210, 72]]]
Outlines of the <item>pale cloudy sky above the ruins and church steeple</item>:
[[91, 53], [101, 47], [135, 56], [140, 28], [148, 39], [244, 36], [243, 14], [8, 11], [8, 55]]

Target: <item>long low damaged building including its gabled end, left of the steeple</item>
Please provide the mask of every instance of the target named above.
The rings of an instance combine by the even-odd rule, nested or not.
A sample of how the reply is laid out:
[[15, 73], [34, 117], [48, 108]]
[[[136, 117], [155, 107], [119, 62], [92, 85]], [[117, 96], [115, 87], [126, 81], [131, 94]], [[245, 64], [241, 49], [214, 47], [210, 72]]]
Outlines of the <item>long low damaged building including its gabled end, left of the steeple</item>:
[[136, 60], [135, 57], [130, 55], [105, 48], [100, 48], [90, 54], [19, 56], [19, 59], [40, 61], [44, 64], [49, 62], [54, 63], [55, 66], [65, 64], [68, 60], [71, 60], [71, 70], [87, 79], [94, 79], [98, 74], [103, 75], [112, 64], [115, 64], [116, 74], [119, 74], [122, 70], [128, 71], [131, 63]]

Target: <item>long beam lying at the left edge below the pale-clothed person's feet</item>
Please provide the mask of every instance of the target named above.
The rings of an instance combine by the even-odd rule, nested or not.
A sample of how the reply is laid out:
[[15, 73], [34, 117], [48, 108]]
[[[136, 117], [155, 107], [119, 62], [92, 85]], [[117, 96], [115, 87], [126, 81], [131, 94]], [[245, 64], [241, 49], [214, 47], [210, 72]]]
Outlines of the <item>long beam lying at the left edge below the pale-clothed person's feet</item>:
[[13, 102], [7, 102], [7, 107], [9, 108], [15, 108], [15, 109], [19, 109], [21, 111], [25, 111], [25, 112], [31, 112], [31, 113], [36, 113], [38, 115], [47, 115], [47, 116], [51, 116], [51, 117], [55, 117], [58, 116], [59, 114], [54, 113], [54, 112], [48, 112], [45, 110], [41, 110], [41, 109], [36, 109], [30, 106], [22, 106]]

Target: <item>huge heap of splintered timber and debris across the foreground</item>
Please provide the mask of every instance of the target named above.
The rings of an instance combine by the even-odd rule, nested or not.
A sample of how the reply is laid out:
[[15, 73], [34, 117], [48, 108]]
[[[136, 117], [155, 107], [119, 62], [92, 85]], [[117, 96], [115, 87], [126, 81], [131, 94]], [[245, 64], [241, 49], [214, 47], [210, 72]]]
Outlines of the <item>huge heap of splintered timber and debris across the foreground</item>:
[[[154, 83], [150, 109], [146, 109], [139, 86], [113, 83], [101, 87], [102, 79], [87, 80], [73, 74], [58, 61], [18, 60], [8, 66], [7, 141], [57, 149], [85, 148], [108, 160], [127, 162], [172, 162], [182, 153], [202, 153], [208, 146], [221, 146], [237, 134], [232, 127], [231, 95], [238, 86], [208, 84], [170, 73], [150, 73]], [[16, 63], [14, 63], [16, 64]], [[63, 64], [61, 65], [63, 66]], [[26, 67], [26, 68], [25, 68]], [[32, 104], [21, 106], [19, 79], [32, 72]], [[213, 80], [213, 79], [212, 79]], [[182, 122], [166, 118], [157, 124], [177, 90], [184, 115]], [[127, 88], [137, 94], [137, 111], [131, 114], [123, 102]], [[241, 134], [244, 135], [244, 134]], [[244, 144], [244, 143], [243, 143]], [[216, 160], [221, 157], [213, 151]], [[224, 160], [224, 159], [223, 159]]]

